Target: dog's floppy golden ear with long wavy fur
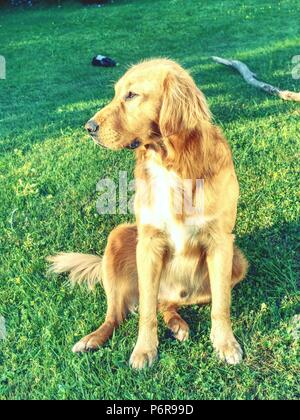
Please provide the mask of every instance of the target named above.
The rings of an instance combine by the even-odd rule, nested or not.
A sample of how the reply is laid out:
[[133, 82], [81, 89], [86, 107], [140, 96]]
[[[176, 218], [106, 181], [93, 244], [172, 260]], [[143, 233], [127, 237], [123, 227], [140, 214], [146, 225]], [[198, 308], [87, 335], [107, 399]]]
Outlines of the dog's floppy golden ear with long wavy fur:
[[159, 127], [164, 137], [190, 133], [203, 121], [211, 120], [203, 93], [191, 76], [168, 74], [164, 80]]

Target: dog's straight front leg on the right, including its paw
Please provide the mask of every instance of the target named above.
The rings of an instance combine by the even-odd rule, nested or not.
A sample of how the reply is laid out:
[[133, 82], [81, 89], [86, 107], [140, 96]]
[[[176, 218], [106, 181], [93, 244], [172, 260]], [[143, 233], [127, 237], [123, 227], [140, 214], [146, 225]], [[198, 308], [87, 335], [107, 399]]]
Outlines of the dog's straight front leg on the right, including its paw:
[[242, 360], [243, 352], [231, 326], [233, 235], [224, 234], [208, 249], [207, 264], [212, 293], [211, 340], [219, 357], [229, 364]]

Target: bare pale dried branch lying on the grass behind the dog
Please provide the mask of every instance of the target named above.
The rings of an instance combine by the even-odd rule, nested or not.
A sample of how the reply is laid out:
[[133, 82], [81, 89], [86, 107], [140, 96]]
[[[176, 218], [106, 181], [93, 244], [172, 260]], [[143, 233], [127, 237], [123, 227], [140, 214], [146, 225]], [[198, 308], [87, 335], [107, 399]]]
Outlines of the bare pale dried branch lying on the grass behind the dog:
[[231, 66], [235, 68], [244, 78], [244, 80], [251, 86], [254, 86], [258, 89], [262, 89], [270, 95], [279, 96], [279, 98], [285, 101], [300, 101], [300, 92], [290, 92], [289, 90], [280, 90], [277, 87], [269, 85], [268, 83], [260, 82], [257, 80], [257, 76], [253, 73], [246, 64], [238, 60], [226, 60], [220, 57], [212, 57], [212, 59], [219, 64], [224, 64], [225, 66]]

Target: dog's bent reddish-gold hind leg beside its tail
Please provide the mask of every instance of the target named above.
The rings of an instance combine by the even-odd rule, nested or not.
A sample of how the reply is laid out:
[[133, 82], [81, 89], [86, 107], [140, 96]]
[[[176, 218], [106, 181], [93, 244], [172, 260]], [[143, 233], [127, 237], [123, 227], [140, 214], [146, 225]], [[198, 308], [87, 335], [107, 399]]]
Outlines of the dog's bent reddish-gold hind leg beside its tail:
[[134, 225], [121, 225], [110, 234], [102, 263], [102, 282], [107, 297], [106, 318], [100, 328], [74, 346], [74, 353], [97, 350], [137, 305], [136, 242], [137, 229]]

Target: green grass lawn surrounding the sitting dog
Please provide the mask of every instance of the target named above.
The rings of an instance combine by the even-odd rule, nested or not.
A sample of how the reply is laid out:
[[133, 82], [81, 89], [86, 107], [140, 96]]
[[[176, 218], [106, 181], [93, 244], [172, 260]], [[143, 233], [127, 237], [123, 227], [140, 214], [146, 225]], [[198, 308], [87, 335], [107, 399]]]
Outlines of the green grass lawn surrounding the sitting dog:
[[[0, 399], [295, 399], [299, 346], [297, 231], [299, 105], [247, 86], [210, 56], [244, 60], [266, 81], [300, 90], [298, 0], [115, 0], [102, 8], [1, 10], [0, 54]], [[120, 66], [97, 69], [94, 54]], [[167, 56], [188, 68], [233, 150], [241, 185], [237, 241], [247, 280], [233, 293], [234, 331], [246, 353], [220, 363], [209, 342], [209, 307], [182, 310], [188, 343], [160, 322], [160, 359], [134, 372], [133, 315], [98, 353], [70, 349], [105, 315], [105, 296], [71, 291], [46, 275], [56, 251], [102, 253], [114, 226], [99, 216], [96, 182], [134, 167], [130, 152], [95, 148], [83, 124], [106, 104], [131, 63]], [[298, 156], [299, 157], [299, 156]]]

